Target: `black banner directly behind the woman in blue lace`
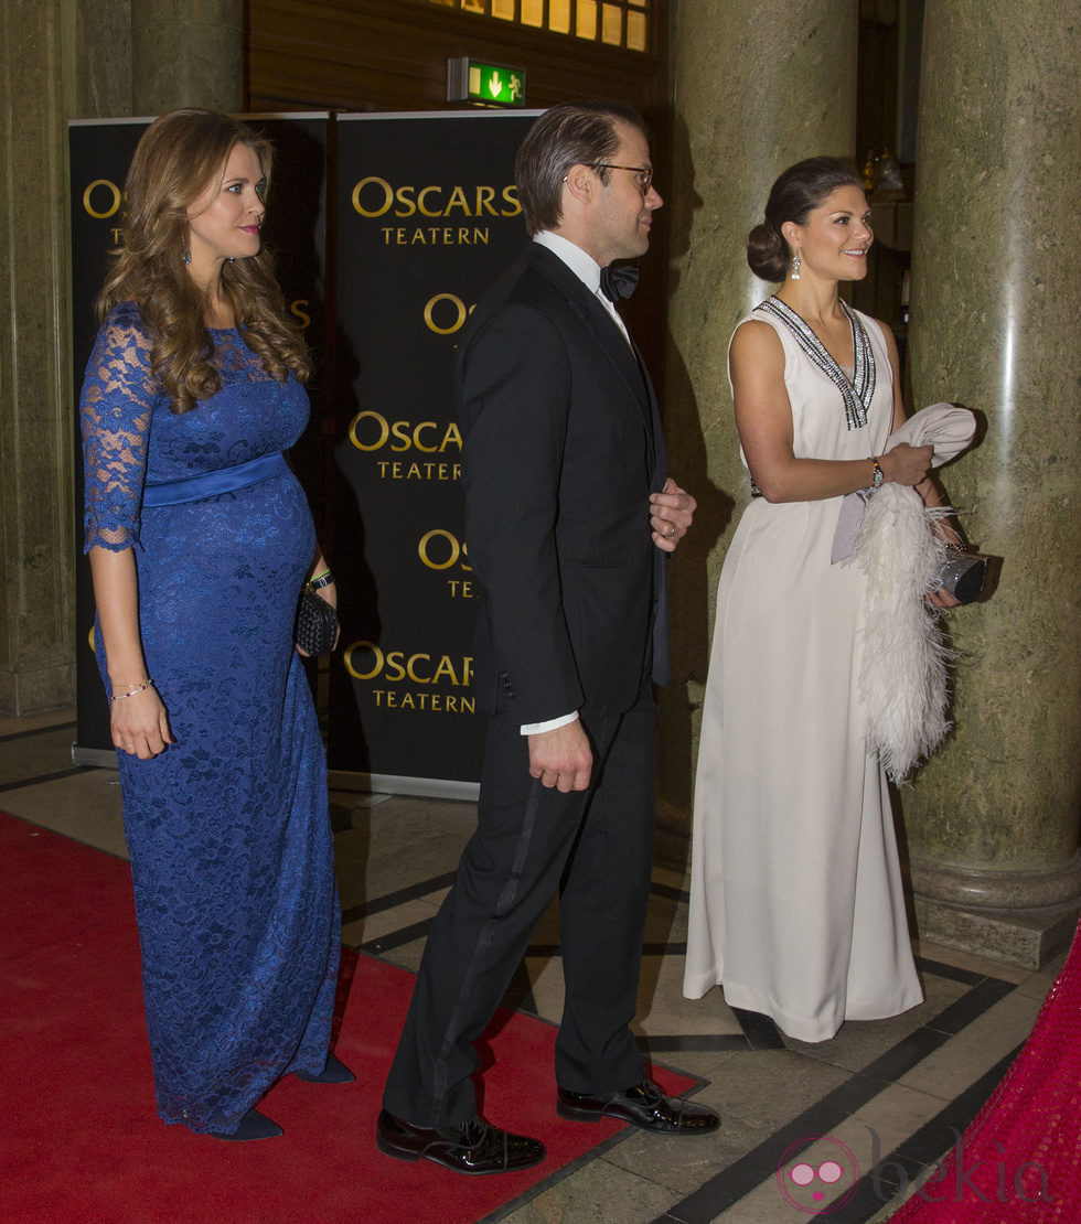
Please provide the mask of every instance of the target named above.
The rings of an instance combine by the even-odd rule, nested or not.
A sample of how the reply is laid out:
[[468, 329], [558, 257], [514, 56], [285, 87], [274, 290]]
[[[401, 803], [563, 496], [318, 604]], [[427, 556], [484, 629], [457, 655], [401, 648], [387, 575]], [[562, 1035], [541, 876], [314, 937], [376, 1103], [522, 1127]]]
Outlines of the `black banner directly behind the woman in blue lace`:
[[[316, 523], [323, 519], [326, 490], [323, 437], [326, 349], [324, 268], [327, 266], [327, 116], [255, 115], [250, 122], [274, 144], [263, 242], [278, 259], [278, 279], [290, 311], [305, 328], [316, 359], [309, 384], [312, 426], [290, 453]], [[83, 481], [78, 436], [78, 395], [98, 323], [94, 299], [102, 288], [109, 251], [120, 244], [121, 192], [127, 168], [149, 119], [77, 120], [69, 125], [71, 157], [72, 367], [75, 373], [76, 455], [76, 700], [78, 727], [73, 750], [78, 765], [108, 765], [115, 759], [109, 734], [109, 703], [94, 661], [94, 597], [89, 564], [82, 552]]]

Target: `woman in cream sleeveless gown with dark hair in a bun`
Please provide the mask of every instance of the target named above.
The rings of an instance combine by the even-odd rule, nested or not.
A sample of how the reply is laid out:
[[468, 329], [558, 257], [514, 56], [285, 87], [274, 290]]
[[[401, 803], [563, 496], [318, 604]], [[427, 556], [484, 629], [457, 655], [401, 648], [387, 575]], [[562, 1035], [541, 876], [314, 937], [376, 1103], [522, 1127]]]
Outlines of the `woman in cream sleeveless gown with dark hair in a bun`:
[[897, 481], [938, 504], [929, 447], [883, 454], [905, 415], [894, 339], [837, 294], [866, 275], [872, 241], [853, 168], [786, 170], [748, 236], [752, 269], [784, 285], [730, 349], [755, 496], [717, 591], [683, 993], [724, 984], [730, 1006], [806, 1042], [923, 998], [857, 696], [866, 579], [831, 563], [846, 493]]

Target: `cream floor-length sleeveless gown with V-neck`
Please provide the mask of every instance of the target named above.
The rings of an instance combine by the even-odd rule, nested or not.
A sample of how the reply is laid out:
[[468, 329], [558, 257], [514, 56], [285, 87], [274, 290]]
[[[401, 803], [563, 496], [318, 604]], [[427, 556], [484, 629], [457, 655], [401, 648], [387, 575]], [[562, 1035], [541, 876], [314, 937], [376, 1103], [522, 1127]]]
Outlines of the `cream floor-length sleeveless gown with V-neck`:
[[[879, 324], [857, 315], [875, 382], [867, 424], [850, 428], [831, 371], [782, 321], [748, 317], [784, 346], [796, 455], [880, 454], [892, 372]], [[724, 984], [730, 1006], [806, 1042], [923, 998], [885, 775], [857, 699], [864, 577], [830, 564], [840, 507], [757, 497], [744, 512], [717, 589], [694, 797], [683, 993]]]

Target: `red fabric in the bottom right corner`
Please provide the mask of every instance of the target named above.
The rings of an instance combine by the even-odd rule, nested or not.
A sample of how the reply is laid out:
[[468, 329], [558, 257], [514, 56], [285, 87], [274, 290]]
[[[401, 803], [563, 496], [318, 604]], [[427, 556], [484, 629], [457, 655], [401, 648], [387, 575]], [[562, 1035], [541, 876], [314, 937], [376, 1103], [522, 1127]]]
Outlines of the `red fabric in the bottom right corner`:
[[[891, 1224], [1081, 1220], [1081, 927], [1036, 1024], [972, 1125]], [[1044, 1198], [1047, 1192], [1047, 1198]]]

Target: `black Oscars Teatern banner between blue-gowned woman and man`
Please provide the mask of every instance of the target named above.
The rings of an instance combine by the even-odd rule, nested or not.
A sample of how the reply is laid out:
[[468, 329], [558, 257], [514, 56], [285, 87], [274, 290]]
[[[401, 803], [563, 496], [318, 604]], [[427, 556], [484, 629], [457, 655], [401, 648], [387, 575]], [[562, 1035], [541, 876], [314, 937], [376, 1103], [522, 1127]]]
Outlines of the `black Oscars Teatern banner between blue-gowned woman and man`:
[[480, 776], [451, 368], [469, 311], [526, 241], [513, 166], [535, 114], [335, 125], [343, 636], [329, 760], [373, 775], [380, 789], [440, 793], [417, 780]]

